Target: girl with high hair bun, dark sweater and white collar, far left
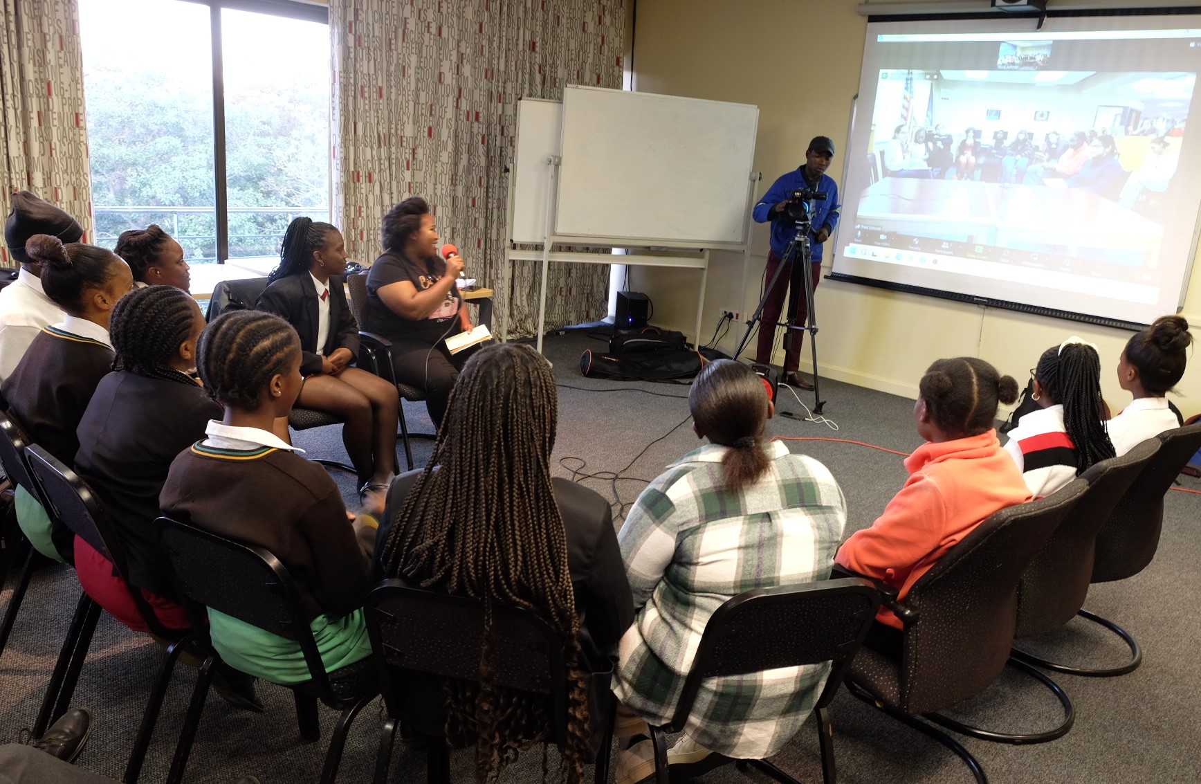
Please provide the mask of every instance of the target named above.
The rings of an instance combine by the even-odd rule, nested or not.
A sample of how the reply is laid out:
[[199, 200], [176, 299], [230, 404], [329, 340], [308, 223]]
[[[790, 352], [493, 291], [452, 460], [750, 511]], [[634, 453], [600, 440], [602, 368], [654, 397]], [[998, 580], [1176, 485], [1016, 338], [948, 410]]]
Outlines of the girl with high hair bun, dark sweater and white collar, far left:
[[[25, 253], [41, 264], [42, 287], [66, 317], [47, 327], [5, 379], [8, 415], [29, 439], [67, 466], [74, 465], [76, 427], [96, 384], [113, 364], [108, 318], [118, 300], [133, 288], [129, 265], [110, 251], [36, 234]], [[41, 504], [17, 489], [17, 521], [38, 552], [55, 561], [72, 558], [74, 534], [55, 526]]]

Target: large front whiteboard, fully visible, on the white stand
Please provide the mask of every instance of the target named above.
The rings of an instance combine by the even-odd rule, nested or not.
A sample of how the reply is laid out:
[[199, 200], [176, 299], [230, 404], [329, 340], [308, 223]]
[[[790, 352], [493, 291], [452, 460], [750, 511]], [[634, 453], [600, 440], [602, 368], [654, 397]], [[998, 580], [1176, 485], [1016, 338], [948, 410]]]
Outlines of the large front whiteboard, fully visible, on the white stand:
[[758, 124], [745, 103], [564, 88], [555, 233], [741, 245]]

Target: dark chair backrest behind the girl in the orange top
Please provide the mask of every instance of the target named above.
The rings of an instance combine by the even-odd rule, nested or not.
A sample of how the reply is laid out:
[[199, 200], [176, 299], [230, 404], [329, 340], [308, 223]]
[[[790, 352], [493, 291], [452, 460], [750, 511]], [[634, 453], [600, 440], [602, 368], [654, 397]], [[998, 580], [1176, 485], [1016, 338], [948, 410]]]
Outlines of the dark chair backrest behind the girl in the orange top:
[[924, 574], [904, 603], [900, 707], [928, 713], [979, 694], [1005, 666], [1017, 622], [1017, 581], [1087, 483], [994, 513]]

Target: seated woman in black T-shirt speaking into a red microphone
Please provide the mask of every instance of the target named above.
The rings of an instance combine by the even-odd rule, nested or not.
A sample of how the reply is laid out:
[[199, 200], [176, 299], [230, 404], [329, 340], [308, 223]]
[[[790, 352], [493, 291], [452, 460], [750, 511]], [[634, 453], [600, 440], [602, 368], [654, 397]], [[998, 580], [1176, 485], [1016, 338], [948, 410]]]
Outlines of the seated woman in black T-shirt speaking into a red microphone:
[[446, 339], [471, 331], [455, 280], [462, 258], [438, 256], [434, 214], [420, 197], [383, 216], [383, 255], [368, 274], [365, 329], [392, 341], [396, 381], [425, 393], [435, 426], [442, 424], [450, 388], [474, 347], [452, 354]]

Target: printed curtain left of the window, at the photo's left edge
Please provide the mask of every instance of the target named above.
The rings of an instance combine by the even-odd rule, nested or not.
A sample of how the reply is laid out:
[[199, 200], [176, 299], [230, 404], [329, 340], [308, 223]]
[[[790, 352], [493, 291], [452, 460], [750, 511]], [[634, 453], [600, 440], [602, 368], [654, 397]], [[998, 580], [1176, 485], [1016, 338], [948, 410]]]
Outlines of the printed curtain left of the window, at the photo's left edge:
[[[83, 53], [74, 0], [0, 0], [0, 221], [28, 190], [91, 237]], [[0, 262], [12, 265], [0, 243]]]

